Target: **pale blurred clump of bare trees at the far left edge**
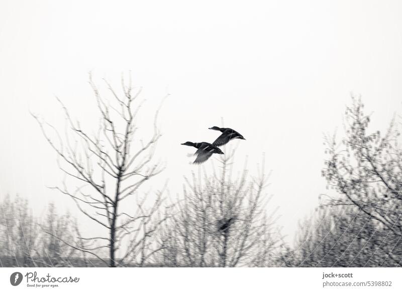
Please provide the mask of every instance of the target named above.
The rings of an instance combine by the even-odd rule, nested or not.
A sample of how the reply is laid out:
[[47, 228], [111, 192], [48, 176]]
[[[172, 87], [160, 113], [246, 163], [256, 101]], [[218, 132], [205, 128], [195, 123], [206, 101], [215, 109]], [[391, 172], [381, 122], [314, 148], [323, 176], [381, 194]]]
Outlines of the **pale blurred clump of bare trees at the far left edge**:
[[[76, 226], [68, 215], [57, 215], [49, 204], [45, 218], [34, 217], [28, 201], [7, 196], [0, 203], [0, 264], [1, 266], [72, 266], [80, 265], [80, 257], [63, 241], [76, 236]], [[50, 237], [48, 231], [61, 240]]]

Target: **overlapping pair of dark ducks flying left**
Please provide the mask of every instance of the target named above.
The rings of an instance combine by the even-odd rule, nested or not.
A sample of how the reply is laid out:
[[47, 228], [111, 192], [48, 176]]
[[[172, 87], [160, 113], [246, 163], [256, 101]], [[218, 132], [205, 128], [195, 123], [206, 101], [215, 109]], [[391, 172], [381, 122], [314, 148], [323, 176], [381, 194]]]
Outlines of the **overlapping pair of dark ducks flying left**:
[[222, 150], [220, 150], [218, 147], [225, 145], [227, 142], [229, 142], [232, 139], [242, 139], [245, 140], [245, 138], [237, 131], [231, 128], [220, 128], [217, 126], [209, 128], [211, 130], [217, 130], [221, 131], [222, 134], [211, 144], [208, 142], [185, 142], [182, 143], [182, 145], [187, 145], [187, 146], [192, 146], [197, 149], [197, 151], [194, 153], [194, 155], [197, 156], [195, 161], [193, 162], [194, 164], [200, 164], [205, 161], [207, 161], [214, 153], [216, 154], [224, 154]]

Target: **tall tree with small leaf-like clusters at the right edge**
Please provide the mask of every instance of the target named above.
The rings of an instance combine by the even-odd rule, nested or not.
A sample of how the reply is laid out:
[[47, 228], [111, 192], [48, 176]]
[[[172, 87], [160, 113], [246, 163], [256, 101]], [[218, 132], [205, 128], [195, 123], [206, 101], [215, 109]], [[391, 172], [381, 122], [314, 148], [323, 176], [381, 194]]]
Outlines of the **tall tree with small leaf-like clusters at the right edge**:
[[326, 137], [329, 158], [322, 174], [339, 194], [330, 197], [327, 205], [353, 206], [356, 216], [362, 217], [361, 230], [370, 226], [372, 237], [378, 234], [383, 238], [376, 245], [373, 258], [382, 251], [386, 254], [384, 264], [400, 266], [402, 149], [398, 146], [399, 131], [392, 119], [385, 134], [368, 133], [369, 122], [370, 116], [363, 113], [361, 100], [352, 98], [352, 105], [346, 108], [346, 135], [342, 144], [338, 146], [335, 137]]

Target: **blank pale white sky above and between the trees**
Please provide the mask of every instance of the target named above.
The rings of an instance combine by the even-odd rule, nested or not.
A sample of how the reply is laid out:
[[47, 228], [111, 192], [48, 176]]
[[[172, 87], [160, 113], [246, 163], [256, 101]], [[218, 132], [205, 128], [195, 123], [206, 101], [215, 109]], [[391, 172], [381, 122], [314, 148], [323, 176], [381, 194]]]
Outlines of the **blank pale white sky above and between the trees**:
[[[401, 112], [402, 3], [400, 1], [5, 1], [0, 3], [0, 198], [30, 199], [40, 213], [49, 201], [76, 209], [45, 185], [62, 178], [55, 155], [29, 108], [62, 127], [54, 95], [88, 129], [97, 120], [87, 83], [92, 71], [120, 84], [132, 71], [163, 137], [171, 194], [190, 165], [184, 141], [213, 141], [208, 127], [242, 133], [236, 161], [249, 168], [265, 152], [272, 170], [268, 194], [280, 206], [284, 234], [326, 192], [321, 178], [323, 132], [342, 133], [350, 93], [374, 111], [373, 129]], [[144, 135], [150, 134], [144, 130]], [[209, 163], [209, 162], [208, 162]]]

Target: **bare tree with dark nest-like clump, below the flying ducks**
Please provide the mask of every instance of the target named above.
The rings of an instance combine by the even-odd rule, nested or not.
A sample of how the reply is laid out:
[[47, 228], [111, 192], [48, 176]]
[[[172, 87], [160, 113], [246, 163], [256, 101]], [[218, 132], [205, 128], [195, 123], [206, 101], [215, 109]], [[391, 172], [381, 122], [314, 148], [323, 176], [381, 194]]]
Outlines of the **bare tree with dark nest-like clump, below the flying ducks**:
[[186, 178], [175, 216], [161, 234], [166, 249], [158, 256], [167, 266], [269, 266], [279, 234], [265, 215], [267, 176], [247, 180], [246, 165], [233, 178], [233, 154], [220, 162], [221, 171]]

